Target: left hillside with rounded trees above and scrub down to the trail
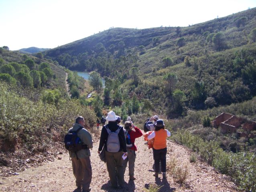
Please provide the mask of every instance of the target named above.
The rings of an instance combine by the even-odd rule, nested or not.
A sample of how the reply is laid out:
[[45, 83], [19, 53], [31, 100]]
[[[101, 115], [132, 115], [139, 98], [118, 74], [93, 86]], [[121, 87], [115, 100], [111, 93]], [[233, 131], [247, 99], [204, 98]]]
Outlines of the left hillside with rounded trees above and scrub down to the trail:
[[[16, 157], [15, 151], [21, 150], [25, 153], [18, 158], [26, 158], [46, 152], [55, 142], [63, 141], [79, 115], [88, 117], [87, 128], [93, 126], [95, 113], [81, 98], [68, 96], [65, 76], [65, 68], [57, 62], [1, 49], [0, 150], [3, 154]], [[0, 159], [4, 158], [3, 154]]]

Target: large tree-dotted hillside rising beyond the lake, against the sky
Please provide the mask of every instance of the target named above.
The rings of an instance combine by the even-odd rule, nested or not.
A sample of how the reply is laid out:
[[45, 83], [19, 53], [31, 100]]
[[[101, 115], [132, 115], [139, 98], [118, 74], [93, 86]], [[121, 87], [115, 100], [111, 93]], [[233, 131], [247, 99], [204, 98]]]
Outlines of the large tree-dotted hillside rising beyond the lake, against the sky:
[[112, 28], [44, 54], [71, 70], [116, 77], [140, 101], [154, 98], [156, 112], [178, 117], [256, 95], [254, 28], [256, 8], [189, 27]]

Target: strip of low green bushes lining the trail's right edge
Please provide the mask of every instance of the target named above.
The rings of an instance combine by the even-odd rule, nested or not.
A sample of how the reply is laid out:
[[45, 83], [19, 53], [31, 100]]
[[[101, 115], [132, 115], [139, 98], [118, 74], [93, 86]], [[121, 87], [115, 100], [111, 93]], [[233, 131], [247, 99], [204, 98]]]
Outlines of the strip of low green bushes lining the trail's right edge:
[[256, 190], [256, 156], [250, 152], [225, 152], [215, 141], [205, 142], [187, 130], [179, 130], [172, 135], [173, 140], [196, 152], [203, 160], [213, 165], [222, 174], [231, 176], [238, 188]]

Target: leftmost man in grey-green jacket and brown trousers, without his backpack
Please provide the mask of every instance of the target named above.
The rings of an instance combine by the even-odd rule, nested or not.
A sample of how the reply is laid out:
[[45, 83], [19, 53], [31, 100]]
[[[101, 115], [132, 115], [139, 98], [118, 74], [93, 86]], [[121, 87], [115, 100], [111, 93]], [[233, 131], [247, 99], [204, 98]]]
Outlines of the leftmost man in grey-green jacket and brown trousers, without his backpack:
[[91, 154], [89, 149], [92, 149], [92, 138], [91, 134], [84, 128], [84, 124], [84, 118], [82, 116], [78, 116], [75, 119], [75, 124], [73, 124], [73, 127], [68, 131], [70, 133], [81, 128], [81, 130], [77, 132], [77, 136], [85, 145], [85, 148], [77, 152], [70, 152], [75, 184], [77, 186], [75, 192], [88, 192], [91, 190], [90, 183], [92, 172], [90, 161]]

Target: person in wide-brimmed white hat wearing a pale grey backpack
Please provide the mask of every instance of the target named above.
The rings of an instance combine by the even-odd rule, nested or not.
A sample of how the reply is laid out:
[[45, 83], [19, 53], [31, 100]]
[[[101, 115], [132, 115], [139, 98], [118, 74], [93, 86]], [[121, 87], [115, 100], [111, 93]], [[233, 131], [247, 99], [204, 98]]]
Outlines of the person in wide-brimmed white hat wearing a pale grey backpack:
[[[98, 148], [98, 154], [105, 145], [106, 164], [108, 169], [108, 175], [112, 188], [124, 187], [124, 173], [122, 171], [122, 155], [127, 156], [126, 139], [124, 136], [124, 128], [117, 124], [114, 111], [108, 112], [106, 120], [108, 124], [103, 126], [100, 135], [100, 145]], [[116, 135], [118, 134], [118, 135]], [[118, 178], [118, 181], [117, 181]]]

